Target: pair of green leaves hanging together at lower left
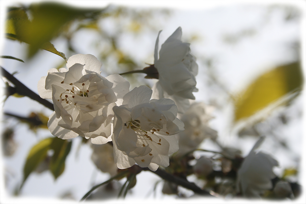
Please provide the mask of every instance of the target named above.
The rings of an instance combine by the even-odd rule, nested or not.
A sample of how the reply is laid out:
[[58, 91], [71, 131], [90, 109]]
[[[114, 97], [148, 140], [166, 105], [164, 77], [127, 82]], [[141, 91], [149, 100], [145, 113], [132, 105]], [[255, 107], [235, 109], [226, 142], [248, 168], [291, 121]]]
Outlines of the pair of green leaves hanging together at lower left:
[[34, 145], [25, 161], [23, 170], [24, 178], [21, 187], [28, 176], [49, 156], [48, 152], [50, 150], [53, 151], [53, 155], [51, 156], [48, 168], [54, 176], [54, 179], [57, 179], [58, 176], [64, 172], [65, 159], [70, 152], [71, 144], [72, 142], [68, 140], [60, 139], [58, 137], [49, 137]]

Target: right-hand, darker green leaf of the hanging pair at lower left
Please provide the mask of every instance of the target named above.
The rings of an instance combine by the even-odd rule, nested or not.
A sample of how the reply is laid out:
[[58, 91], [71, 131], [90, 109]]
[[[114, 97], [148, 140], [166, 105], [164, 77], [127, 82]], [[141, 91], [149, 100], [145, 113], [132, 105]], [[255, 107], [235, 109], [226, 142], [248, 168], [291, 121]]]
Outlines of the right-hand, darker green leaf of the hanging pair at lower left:
[[60, 176], [65, 169], [65, 160], [70, 152], [72, 142], [54, 137], [50, 148], [54, 150], [54, 154], [50, 162], [50, 171], [55, 179]]

